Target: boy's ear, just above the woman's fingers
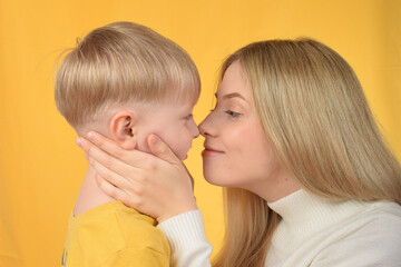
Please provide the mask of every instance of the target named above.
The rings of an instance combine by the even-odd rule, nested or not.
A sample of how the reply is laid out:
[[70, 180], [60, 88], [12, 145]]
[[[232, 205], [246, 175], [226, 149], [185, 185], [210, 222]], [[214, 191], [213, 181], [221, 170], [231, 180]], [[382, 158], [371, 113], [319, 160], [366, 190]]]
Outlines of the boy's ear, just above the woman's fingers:
[[113, 139], [121, 148], [133, 150], [137, 145], [137, 115], [129, 111], [119, 111], [110, 121]]

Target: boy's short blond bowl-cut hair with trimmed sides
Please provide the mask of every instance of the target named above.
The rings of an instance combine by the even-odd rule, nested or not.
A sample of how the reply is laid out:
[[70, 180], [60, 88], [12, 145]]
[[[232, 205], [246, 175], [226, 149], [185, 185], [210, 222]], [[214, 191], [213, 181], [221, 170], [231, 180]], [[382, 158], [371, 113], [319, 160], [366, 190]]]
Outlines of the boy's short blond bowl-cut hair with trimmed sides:
[[199, 92], [198, 71], [184, 49], [147, 27], [115, 22], [89, 32], [66, 56], [55, 99], [79, 128], [104, 119], [111, 106], [182, 98], [195, 103]]

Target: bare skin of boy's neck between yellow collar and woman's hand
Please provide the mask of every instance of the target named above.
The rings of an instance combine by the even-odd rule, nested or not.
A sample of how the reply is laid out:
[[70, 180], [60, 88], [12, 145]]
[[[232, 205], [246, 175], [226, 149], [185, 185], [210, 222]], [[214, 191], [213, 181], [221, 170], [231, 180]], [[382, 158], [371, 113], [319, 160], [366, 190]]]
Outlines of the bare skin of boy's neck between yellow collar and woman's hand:
[[79, 190], [76, 206], [74, 209], [74, 216], [77, 217], [80, 214], [96, 208], [106, 202], [114, 201], [115, 199], [107, 196], [96, 182], [96, 171], [89, 165], [81, 188]]

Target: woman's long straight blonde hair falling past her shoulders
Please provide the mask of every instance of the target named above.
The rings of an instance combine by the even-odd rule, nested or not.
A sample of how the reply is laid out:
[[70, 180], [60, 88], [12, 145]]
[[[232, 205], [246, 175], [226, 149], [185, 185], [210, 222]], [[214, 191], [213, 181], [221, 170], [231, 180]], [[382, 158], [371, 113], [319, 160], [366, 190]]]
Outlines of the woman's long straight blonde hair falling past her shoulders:
[[[348, 62], [310, 39], [251, 43], [238, 61], [266, 138], [304, 189], [333, 200], [401, 204], [401, 168], [373, 120]], [[225, 188], [226, 234], [215, 267], [263, 266], [280, 216], [264, 199]]]

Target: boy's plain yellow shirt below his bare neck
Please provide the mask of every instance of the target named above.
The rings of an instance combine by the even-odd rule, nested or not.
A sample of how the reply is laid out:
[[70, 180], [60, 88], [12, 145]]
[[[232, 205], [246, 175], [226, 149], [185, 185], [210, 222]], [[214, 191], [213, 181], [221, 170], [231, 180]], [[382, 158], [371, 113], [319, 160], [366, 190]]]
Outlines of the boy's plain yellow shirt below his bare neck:
[[158, 267], [169, 265], [169, 247], [156, 221], [119, 201], [71, 215], [62, 267]]

